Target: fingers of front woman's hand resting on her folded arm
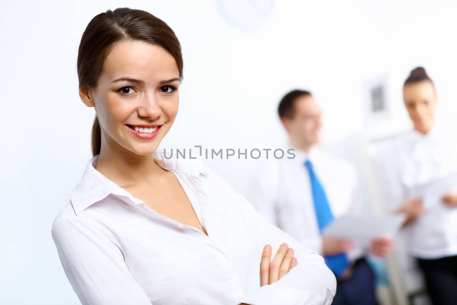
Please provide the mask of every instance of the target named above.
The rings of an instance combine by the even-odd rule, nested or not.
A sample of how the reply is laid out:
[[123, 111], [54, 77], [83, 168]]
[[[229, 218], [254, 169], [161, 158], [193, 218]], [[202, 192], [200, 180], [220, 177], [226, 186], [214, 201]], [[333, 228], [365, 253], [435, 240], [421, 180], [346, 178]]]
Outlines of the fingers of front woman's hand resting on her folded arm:
[[293, 249], [286, 243], [281, 244], [273, 261], [271, 261], [271, 246], [266, 245], [260, 262], [260, 286], [277, 282], [297, 264], [297, 259], [293, 257]]

